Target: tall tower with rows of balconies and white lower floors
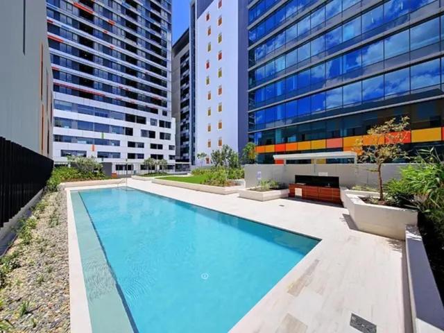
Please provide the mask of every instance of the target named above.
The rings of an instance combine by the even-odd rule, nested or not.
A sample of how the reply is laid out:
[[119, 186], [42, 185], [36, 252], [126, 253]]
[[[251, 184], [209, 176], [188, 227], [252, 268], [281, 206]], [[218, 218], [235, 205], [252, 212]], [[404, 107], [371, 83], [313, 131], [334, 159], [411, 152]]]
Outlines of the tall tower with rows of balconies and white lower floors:
[[47, 0], [54, 160], [153, 157], [173, 168], [171, 1]]

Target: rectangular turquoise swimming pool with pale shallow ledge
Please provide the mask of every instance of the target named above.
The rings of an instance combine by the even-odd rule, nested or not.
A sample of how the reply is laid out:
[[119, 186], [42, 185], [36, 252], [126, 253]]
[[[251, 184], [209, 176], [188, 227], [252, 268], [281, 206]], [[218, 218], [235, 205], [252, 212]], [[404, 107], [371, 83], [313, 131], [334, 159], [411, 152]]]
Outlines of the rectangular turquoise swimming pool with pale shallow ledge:
[[130, 188], [71, 201], [93, 332], [228, 332], [318, 243]]

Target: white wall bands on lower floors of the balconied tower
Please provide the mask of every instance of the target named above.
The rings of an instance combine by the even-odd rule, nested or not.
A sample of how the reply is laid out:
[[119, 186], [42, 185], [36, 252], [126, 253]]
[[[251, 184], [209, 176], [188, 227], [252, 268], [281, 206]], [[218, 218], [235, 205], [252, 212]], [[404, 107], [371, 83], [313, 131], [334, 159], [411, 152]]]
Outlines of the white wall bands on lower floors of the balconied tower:
[[[175, 135], [176, 135], [176, 121], [174, 118], [162, 116], [162, 114], [153, 114], [149, 112], [144, 112], [140, 110], [134, 110], [131, 108], [121, 107], [119, 105], [112, 105], [108, 103], [103, 103], [100, 101], [93, 101], [91, 99], [83, 99], [78, 96], [71, 96], [67, 94], [61, 94], [58, 92], [54, 93], [54, 99], [60, 101], [68, 101], [71, 103], [77, 103], [80, 105], [89, 105], [95, 108], [103, 108], [105, 110], [113, 110], [117, 112], [123, 112], [128, 114], [135, 114], [138, 116], [146, 117], [146, 125], [142, 123], [133, 123], [129, 121], [122, 121], [118, 119], [110, 119], [104, 117], [96, 117], [89, 114], [80, 114], [76, 112], [69, 112], [65, 110], [58, 110], [54, 108], [54, 117], [66, 118], [66, 119], [75, 119], [80, 121], [89, 121], [93, 123], [104, 123], [114, 126], [123, 126], [133, 128], [133, 136], [129, 135], [119, 135], [113, 133], [102, 133], [94, 132], [90, 130], [77, 130], [71, 128], [60, 128], [54, 127], [53, 133], [54, 135], [69, 135], [73, 137], [87, 137], [87, 138], [98, 138], [98, 139], [112, 139], [119, 140], [120, 146], [101, 146], [94, 145], [94, 151], [91, 144], [71, 144], [65, 142], [54, 142], [53, 143], [53, 159], [55, 162], [66, 162], [67, 158], [62, 157], [62, 150], [70, 150], [70, 151], [86, 151], [87, 156], [97, 157], [98, 151], [105, 152], [118, 152], [121, 154], [121, 158], [113, 159], [113, 158], [105, 158], [103, 162], [114, 162], [114, 163], [122, 163], [126, 161], [126, 157], [128, 153], [144, 153], [144, 158], [150, 157], [151, 154], [164, 155], [164, 159], [167, 160], [169, 164], [174, 164], [174, 160], [169, 160], [169, 155], [176, 155], [176, 151], [174, 149], [169, 150], [169, 146], [174, 146], [175, 143]], [[157, 126], [150, 125], [150, 119], [157, 119]], [[159, 120], [171, 121], [171, 128], [161, 128], [158, 126]], [[141, 130], [153, 130], [155, 131], [155, 139], [150, 139], [148, 137], [141, 136]], [[160, 139], [160, 132], [170, 133], [170, 140]], [[144, 142], [144, 148], [130, 148], [128, 147], [128, 141], [131, 142]], [[150, 144], [162, 144], [163, 149], [151, 149]], [[128, 160], [128, 162], [133, 163], [141, 163], [143, 160]], [[114, 170], [114, 168], [113, 168]]]

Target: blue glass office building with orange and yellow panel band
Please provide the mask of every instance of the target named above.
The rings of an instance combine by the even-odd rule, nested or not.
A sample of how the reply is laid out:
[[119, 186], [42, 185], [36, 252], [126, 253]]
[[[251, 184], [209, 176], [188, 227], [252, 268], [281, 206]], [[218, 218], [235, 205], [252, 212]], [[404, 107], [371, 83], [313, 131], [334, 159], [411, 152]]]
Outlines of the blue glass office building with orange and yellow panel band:
[[437, 0], [250, 1], [248, 122], [259, 162], [348, 151], [403, 115], [406, 150], [443, 152], [442, 10]]

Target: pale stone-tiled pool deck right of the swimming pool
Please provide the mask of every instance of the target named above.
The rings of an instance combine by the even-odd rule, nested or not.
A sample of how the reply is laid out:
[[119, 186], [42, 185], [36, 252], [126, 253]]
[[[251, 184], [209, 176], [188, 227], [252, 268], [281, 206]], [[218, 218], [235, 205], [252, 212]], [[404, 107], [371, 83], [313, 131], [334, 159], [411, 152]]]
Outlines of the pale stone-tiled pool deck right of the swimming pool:
[[133, 179], [128, 186], [322, 239], [232, 332], [357, 333], [352, 314], [378, 333], [412, 332], [404, 242], [355, 230], [344, 208], [261, 203]]

